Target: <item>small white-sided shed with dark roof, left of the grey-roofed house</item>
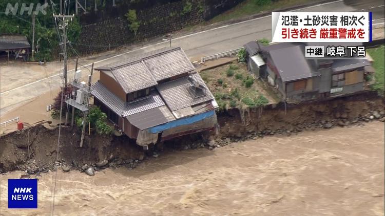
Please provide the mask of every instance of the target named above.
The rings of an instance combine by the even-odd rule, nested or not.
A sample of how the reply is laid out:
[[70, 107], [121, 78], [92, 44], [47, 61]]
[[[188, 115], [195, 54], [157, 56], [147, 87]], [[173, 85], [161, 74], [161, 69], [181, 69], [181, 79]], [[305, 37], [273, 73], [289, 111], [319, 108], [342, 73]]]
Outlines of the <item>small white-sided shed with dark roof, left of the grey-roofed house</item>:
[[261, 68], [265, 65], [265, 61], [263, 60], [262, 56], [259, 55], [260, 45], [256, 41], [250, 41], [247, 44], [244, 45], [244, 48], [246, 49], [246, 62], [247, 62], [247, 69], [251, 73], [253, 73], [257, 78], [262, 76], [264, 77], [264, 74], [261, 74], [262, 71]]

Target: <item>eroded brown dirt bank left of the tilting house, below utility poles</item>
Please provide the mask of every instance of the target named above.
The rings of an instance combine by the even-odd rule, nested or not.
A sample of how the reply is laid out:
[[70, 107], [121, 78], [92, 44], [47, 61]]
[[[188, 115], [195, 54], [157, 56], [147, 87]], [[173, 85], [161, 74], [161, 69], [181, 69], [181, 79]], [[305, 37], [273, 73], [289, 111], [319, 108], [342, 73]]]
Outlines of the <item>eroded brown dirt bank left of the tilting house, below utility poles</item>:
[[[0, 169], [31, 169], [31, 172], [52, 169], [56, 161], [59, 128], [36, 125], [21, 132], [0, 138]], [[63, 164], [81, 167], [83, 164], [112, 159], [140, 159], [140, 146], [125, 136], [86, 136], [83, 147], [79, 147], [80, 132], [77, 128], [62, 127], [58, 160]], [[25, 164], [29, 161], [29, 164]]]

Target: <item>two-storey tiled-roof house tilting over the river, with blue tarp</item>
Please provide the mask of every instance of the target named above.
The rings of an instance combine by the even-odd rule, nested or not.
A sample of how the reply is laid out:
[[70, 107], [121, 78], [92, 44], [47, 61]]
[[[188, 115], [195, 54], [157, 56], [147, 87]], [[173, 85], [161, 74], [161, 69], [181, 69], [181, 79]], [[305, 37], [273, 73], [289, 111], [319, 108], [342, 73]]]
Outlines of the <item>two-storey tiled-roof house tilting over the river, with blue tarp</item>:
[[122, 133], [146, 146], [214, 130], [214, 96], [181, 48], [168, 48], [96, 68], [94, 104]]

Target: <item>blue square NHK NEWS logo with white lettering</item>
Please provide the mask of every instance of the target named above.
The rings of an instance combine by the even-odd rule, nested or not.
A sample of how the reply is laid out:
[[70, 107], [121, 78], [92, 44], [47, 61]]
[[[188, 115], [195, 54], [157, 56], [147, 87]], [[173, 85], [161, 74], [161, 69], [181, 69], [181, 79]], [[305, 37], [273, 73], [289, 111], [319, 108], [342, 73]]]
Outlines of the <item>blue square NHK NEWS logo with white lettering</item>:
[[8, 208], [37, 208], [37, 179], [8, 179]]

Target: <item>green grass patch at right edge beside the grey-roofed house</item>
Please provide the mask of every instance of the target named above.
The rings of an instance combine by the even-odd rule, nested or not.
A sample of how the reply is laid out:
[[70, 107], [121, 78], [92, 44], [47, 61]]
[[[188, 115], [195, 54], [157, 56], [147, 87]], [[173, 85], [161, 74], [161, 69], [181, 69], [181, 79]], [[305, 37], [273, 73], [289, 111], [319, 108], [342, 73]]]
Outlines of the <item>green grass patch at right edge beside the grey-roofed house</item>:
[[385, 47], [382, 45], [378, 48], [368, 49], [369, 55], [373, 58], [373, 68], [376, 70], [374, 77], [376, 82], [372, 85], [372, 89], [384, 96], [385, 91]]

